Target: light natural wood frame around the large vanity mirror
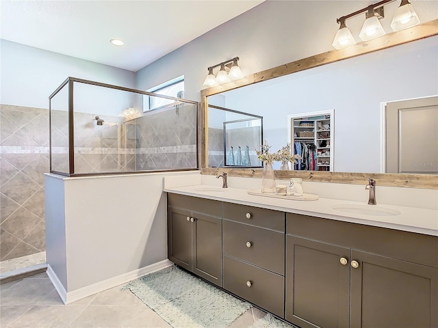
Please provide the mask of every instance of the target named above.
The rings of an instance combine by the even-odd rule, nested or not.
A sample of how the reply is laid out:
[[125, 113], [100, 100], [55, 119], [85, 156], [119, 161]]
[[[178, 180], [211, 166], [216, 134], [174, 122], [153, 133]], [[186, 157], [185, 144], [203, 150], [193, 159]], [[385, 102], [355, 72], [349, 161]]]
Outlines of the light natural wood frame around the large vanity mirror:
[[[389, 33], [386, 36], [370, 40], [368, 42], [361, 42], [355, 46], [351, 46], [339, 51], [333, 50], [326, 53], [320, 53], [305, 59], [293, 61], [288, 64], [270, 68], [262, 72], [245, 77], [245, 79], [210, 87], [201, 90], [201, 131], [199, 131], [201, 154], [200, 163], [203, 174], [215, 174], [217, 169], [208, 167], [207, 161], [207, 107], [208, 97], [229, 90], [236, 90], [248, 85], [254, 85], [262, 81], [268, 81], [277, 77], [284, 77], [288, 74], [302, 72], [310, 68], [318, 66], [326, 66], [326, 64], [335, 63], [344, 59], [352, 57], [363, 56], [383, 49], [388, 49], [400, 44], [415, 42], [424, 38], [436, 36], [438, 34], [438, 20], [431, 20], [428, 23], [406, 29]], [[326, 66], [328, 67], [328, 66]], [[438, 92], [438, 90], [437, 90]], [[260, 177], [261, 169], [226, 169], [231, 176], [245, 176], [245, 177]], [[416, 187], [425, 189], [436, 189], [438, 187], [438, 176], [435, 174], [385, 174], [372, 172], [298, 172], [298, 171], [276, 171], [278, 178], [300, 177], [304, 180], [312, 180], [318, 182], [338, 182], [338, 183], [352, 183], [365, 184], [368, 178], [372, 177], [378, 181], [379, 185], [392, 187]]]

